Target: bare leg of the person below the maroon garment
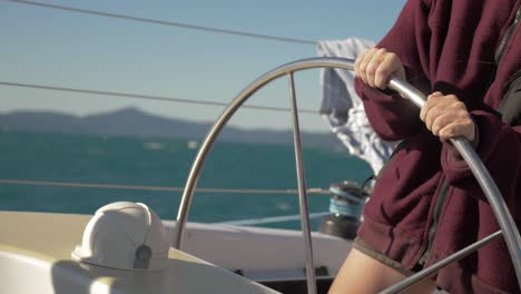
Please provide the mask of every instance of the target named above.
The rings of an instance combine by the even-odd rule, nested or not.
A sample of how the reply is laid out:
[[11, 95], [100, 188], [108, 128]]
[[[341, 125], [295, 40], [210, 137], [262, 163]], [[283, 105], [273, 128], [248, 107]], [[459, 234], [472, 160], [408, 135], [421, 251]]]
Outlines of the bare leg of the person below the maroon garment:
[[[377, 293], [405, 277], [399, 271], [353, 248], [338, 271], [330, 294]], [[434, 290], [434, 282], [426, 278], [403, 293], [432, 293]]]

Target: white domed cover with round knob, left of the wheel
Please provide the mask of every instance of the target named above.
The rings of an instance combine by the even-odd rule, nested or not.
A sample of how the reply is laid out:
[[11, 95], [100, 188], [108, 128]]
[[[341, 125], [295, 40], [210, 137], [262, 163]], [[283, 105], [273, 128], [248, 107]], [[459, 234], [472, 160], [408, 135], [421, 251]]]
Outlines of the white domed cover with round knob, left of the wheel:
[[119, 270], [164, 270], [168, 239], [161, 219], [145, 204], [117, 202], [96, 212], [72, 257]]

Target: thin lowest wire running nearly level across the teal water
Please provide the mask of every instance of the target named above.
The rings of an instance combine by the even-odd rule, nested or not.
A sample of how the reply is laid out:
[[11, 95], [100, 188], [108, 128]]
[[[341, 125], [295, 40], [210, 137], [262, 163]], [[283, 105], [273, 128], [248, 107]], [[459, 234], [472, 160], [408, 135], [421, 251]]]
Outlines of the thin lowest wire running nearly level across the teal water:
[[[69, 188], [98, 188], [98, 189], [129, 189], [129, 190], [161, 190], [161, 192], [183, 192], [184, 187], [167, 186], [142, 186], [142, 185], [117, 185], [117, 184], [95, 184], [95, 183], [70, 183], [70, 182], [50, 182], [50, 180], [22, 180], [22, 179], [0, 179], [4, 185], [22, 186], [55, 186]], [[197, 188], [198, 193], [230, 193], [230, 194], [297, 194], [296, 189], [230, 189], [230, 188]], [[331, 194], [328, 189], [308, 188], [308, 194]]]

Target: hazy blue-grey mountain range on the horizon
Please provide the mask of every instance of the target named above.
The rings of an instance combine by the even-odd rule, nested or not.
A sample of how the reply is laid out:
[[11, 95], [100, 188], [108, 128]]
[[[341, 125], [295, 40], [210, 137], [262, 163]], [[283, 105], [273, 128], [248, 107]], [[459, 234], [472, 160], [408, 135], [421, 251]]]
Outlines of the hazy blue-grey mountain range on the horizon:
[[[125, 108], [114, 112], [76, 117], [46, 111], [16, 111], [0, 114], [2, 130], [26, 130], [36, 133], [89, 134], [104, 136], [166, 137], [203, 139], [212, 124], [163, 118]], [[240, 129], [226, 127], [220, 140], [240, 143], [292, 144], [291, 130]], [[333, 134], [302, 133], [305, 146], [338, 148], [341, 143]]]

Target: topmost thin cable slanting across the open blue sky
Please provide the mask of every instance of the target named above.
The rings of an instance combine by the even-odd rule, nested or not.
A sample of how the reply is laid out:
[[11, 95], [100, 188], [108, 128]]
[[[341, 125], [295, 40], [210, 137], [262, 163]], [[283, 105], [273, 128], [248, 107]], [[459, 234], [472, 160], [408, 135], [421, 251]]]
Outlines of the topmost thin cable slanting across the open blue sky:
[[226, 35], [232, 35], [232, 36], [249, 37], [249, 38], [265, 39], [265, 40], [281, 41], [281, 42], [303, 43], [303, 45], [316, 45], [317, 43], [316, 41], [305, 40], [305, 39], [276, 37], [276, 36], [268, 36], [268, 35], [260, 35], [260, 33], [253, 33], [253, 32], [237, 31], [237, 30], [226, 30], [226, 29], [218, 29], [218, 28], [213, 28], [213, 27], [203, 27], [203, 26], [196, 26], [196, 24], [189, 24], [189, 23], [181, 23], [181, 22], [176, 22], [176, 21], [139, 18], [139, 17], [125, 16], [125, 14], [118, 14], [118, 13], [111, 13], [111, 12], [105, 12], [105, 11], [56, 6], [56, 4], [48, 4], [48, 3], [27, 1], [27, 0], [3, 0], [3, 1], [10, 1], [10, 2], [20, 3], [20, 4], [37, 6], [37, 7], [43, 7], [43, 8], [49, 8], [49, 9], [57, 9], [57, 10], [63, 10], [63, 11], [70, 11], [70, 12], [90, 14], [90, 16], [117, 18], [117, 19], [124, 19], [124, 20], [130, 20], [130, 21], [139, 21], [139, 22], [146, 22], [146, 23], [176, 27], [176, 28], [181, 28], [181, 29], [207, 31], [207, 32], [214, 32], [214, 33], [226, 33]]

